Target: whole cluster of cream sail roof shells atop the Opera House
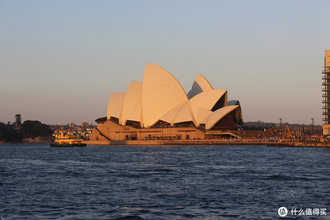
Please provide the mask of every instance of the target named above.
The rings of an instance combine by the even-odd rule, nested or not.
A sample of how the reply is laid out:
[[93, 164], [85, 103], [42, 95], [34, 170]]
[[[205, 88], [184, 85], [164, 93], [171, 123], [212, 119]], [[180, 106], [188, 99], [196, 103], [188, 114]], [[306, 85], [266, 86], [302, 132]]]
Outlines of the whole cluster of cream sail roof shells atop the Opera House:
[[[227, 91], [213, 89], [199, 74], [188, 95], [190, 100], [169, 72], [147, 63], [143, 82], [131, 81], [126, 93], [111, 94], [107, 118], [116, 117], [121, 125], [127, 120], [138, 121], [143, 127], [152, 126], [158, 120], [171, 125], [193, 121], [196, 126], [205, 124], [206, 129], [210, 129], [234, 109], [240, 110], [239, 101], [227, 102]], [[222, 103], [218, 103], [219, 100]], [[220, 109], [212, 112], [217, 108]]]

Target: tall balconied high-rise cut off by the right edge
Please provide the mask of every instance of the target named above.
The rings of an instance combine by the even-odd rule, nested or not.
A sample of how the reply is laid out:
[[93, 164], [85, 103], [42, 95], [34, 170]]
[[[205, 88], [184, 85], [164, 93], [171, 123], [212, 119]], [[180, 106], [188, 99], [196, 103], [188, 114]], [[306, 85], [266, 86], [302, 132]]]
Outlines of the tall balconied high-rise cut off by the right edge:
[[324, 74], [322, 77], [322, 79], [324, 79], [324, 82], [322, 83], [322, 85], [324, 85], [324, 88], [322, 89], [324, 92], [322, 95], [324, 98], [322, 103], [324, 106], [322, 107], [322, 115], [324, 115], [325, 118], [323, 118], [324, 124], [322, 127], [323, 135], [328, 136], [330, 134], [330, 50], [325, 50], [324, 52], [324, 70], [322, 70], [322, 74]]

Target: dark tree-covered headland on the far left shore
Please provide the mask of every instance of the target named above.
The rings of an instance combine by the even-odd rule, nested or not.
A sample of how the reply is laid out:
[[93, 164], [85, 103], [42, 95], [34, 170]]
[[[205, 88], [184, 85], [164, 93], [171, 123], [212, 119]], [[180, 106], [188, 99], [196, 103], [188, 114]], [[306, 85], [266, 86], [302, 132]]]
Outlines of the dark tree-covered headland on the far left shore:
[[[0, 122], [0, 142], [22, 142], [23, 138], [36, 138], [50, 136], [54, 133], [47, 124], [40, 121], [26, 120], [21, 123], [21, 115], [15, 115], [15, 122], [7, 124]], [[21, 127], [19, 127], [21, 126]]]

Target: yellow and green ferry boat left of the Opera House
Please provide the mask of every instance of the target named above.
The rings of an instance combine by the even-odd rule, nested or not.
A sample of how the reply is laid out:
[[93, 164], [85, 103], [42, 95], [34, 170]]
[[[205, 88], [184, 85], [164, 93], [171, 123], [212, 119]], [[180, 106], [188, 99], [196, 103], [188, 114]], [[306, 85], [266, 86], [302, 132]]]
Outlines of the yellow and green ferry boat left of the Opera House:
[[82, 139], [72, 136], [63, 131], [55, 131], [55, 141], [49, 143], [51, 147], [85, 147], [87, 144], [82, 143]]

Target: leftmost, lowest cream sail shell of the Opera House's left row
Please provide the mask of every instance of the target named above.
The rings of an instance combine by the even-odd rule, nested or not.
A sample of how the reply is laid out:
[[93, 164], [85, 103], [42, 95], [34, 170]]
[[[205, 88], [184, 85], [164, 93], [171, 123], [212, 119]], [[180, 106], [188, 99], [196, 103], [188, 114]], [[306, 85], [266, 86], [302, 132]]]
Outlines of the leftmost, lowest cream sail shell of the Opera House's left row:
[[124, 105], [125, 95], [126, 93], [122, 93], [122, 92], [112, 93], [110, 95], [108, 101], [108, 110], [107, 110], [108, 119], [110, 119], [110, 117], [116, 117], [116, 118], [120, 117]]

